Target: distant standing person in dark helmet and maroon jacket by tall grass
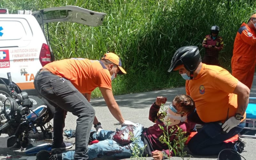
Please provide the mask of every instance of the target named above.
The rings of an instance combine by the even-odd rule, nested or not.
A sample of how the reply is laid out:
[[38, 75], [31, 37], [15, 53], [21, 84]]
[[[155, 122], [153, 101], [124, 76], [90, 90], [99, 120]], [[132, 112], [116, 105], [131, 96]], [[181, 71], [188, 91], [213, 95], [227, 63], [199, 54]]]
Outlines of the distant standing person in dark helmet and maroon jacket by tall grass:
[[204, 37], [203, 47], [205, 48], [205, 53], [202, 62], [220, 66], [219, 51], [223, 49], [224, 45], [222, 37], [218, 36], [220, 28], [218, 26], [212, 26], [210, 32], [210, 35]]

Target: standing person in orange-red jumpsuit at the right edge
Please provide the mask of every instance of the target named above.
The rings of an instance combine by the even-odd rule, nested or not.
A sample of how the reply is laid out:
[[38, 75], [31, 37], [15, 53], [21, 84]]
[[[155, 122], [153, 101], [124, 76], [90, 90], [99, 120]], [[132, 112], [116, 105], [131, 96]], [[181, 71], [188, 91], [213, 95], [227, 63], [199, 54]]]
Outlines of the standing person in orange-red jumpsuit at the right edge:
[[236, 33], [231, 59], [232, 75], [251, 89], [255, 64], [256, 14], [253, 14], [247, 24], [242, 23]]

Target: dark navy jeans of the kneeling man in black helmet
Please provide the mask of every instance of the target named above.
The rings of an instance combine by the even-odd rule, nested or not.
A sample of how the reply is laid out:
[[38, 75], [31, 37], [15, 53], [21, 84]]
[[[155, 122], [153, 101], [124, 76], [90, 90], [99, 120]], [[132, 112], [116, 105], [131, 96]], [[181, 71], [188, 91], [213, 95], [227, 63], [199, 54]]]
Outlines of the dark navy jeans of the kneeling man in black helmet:
[[240, 123], [228, 133], [222, 133], [221, 124], [218, 122], [205, 123], [203, 128], [189, 140], [188, 148], [197, 155], [217, 155], [226, 148], [237, 150], [236, 143], [224, 141], [240, 133], [244, 125], [245, 123]]

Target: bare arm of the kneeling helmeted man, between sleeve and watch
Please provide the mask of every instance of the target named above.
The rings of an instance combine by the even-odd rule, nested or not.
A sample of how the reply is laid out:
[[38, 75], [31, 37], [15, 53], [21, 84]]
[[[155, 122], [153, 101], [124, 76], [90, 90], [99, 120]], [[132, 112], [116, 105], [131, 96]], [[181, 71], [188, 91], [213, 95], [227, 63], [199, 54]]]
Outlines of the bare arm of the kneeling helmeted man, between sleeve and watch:
[[249, 103], [250, 89], [245, 84], [238, 81], [233, 93], [237, 94], [238, 106], [237, 106], [236, 113], [240, 113], [241, 115], [244, 115], [244, 112]]

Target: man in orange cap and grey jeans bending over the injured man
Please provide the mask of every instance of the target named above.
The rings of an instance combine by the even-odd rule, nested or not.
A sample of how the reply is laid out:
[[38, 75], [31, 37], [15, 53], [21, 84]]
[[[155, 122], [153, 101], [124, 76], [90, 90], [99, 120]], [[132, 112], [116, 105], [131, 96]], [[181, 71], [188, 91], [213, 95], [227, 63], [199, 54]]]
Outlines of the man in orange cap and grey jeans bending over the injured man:
[[65, 59], [51, 62], [40, 69], [34, 79], [36, 90], [55, 108], [53, 118], [52, 152], [72, 147], [63, 142], [63, 128], [68, 112], [77, 116], [76, 148], [74, 159], [88, 159], [88, 141], [91, 127], [100, 131], [101, 125], [90, 102], [91, 92], [99, 87], [111, 114], [122, 124], [133, 125], [124, 120], [112, 93], [111, 81], [117, 74], [126, 74], [120, 58], [106, 53], [101, 60]]

